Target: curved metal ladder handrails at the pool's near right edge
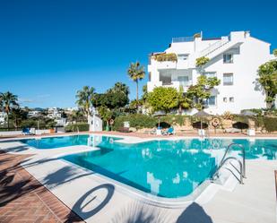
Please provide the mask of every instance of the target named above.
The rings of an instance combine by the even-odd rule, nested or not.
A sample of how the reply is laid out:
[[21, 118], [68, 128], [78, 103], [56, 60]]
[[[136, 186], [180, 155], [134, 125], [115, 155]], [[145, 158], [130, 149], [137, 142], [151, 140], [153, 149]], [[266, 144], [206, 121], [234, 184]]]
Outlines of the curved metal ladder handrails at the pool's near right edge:
[[[239, 160], [238, 158], [235, 158], [235, 157], [226, 158], [227, 153], [229, 152], [229, 150], [232, 150], [232, 148], [234, 146], [238, 146], [240, 148], [240, 150], [242, 152], [242, 162], [241, 162], [241, 160]], [[238, 162], [239, 170], [236, 167], [234, 167], [231, 163], [230, 163], [230, 165], [232, 165], [232, 167], [234, 167], [238, 171], [238, 174], [239, 174], [238, 182], [239, 182], [239, 184], [243, 184], [243, 178], [246, 178], [246, 150], [241, 144], [238, 144], [238, 143], [229, 144], [229, 146], [225, 150], [225, 153], [224, 153], [224, 155], [221, 159], [221, 163], [220, 163], [219, 167], [216, 169], [216, 171], [212, 175], [212, 178], [211, 178], [212, 182], [215, 180], [215, 177], [219, 177], [219, 172], [220, 172], [221, 168], [230, 159], [236, 160]]]

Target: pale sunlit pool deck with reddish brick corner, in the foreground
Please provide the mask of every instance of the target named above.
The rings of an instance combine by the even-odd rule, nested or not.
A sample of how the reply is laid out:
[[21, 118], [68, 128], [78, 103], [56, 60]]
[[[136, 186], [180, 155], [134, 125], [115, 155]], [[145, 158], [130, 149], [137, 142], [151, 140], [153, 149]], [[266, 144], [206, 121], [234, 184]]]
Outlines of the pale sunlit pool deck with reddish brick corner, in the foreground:
[[[129, 136], [126, 139], [130, 142], [143, 141], [142, 137]], [[87, 146], [34, 150], [19, 142], [0, 142], [0, 149], [5, 151], [0, 154], [0, 222], [43, 222], [36, 216], [47, 216], [44, 222], [81, 221], [74, 213], [87, 222], [101, 223], [276, 222], [276, 160], [247, 160], [245, 184], [233, 190], [218, 188], [205, 199], [170, 208], [143, 202], [120, 184], [57, 159], [63, 154], [91, 150]], [[26, 207], [30, 202], [37, 204]], [[24, 216], [30, 219], [23, 221]]]

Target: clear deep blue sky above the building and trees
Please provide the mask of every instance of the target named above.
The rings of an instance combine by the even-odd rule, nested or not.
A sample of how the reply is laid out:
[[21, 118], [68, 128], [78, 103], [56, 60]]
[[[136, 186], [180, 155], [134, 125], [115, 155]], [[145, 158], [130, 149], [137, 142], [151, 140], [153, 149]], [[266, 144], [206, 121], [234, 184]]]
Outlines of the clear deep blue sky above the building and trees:
[[[276, 0], [0, 0], [0, 92], [22, 106], [74, 107], [82, 86], [104, 92], [173, 37], [251, 35], [277, 48]], [[148, 75], [140, 82], [146, 84]]]

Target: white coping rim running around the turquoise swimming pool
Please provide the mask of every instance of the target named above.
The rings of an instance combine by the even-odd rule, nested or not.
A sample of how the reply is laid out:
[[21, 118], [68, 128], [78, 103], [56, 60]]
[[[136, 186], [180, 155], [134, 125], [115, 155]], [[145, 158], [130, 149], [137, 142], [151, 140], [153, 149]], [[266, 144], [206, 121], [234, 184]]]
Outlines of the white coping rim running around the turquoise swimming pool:
[[[86, 135], [88, 133], [82, 133], [82, 134]], [[183, 136], [170, 137], [170, 138], [157, 138], [157, 137], [156, 138], [155, 137], [153, 137], [153, 138], [138, 138], [138, 137], [134, 137], [134, 136], [130, 137], [130, 136], [110, 135], [110, 134], [105, 135], [105, 134], [101, 134], [101, 133], [91, 133], [91, 135], [100, 135], [100, 136], [103, 135], [103, 136], [108, 136], [108, 137], [121, 138], [122, 140], [118, 140], [117, 142], [122, 142], [122, 143], [141, 143], [141, 142], [165, 141], [165, 140], [176, 141], [176, 140], [182, 140], [182, 139], [187, 139], [187, 138], [188, 139], [197, 139], [197, 138], [199, 138], [199, 137], [183, 137]], [[72, 136], [72, 134], [64, 134], [64, 135], [58, 135], [58, 136], [47, 136], [47, 137], [39, 137], [39, 138], [63, 137], [63, 136]], [[220, 137], [211, 137], [211, 138], [219, 139]], [[221, 138], [227, 139], [226, 137], [221, 137]], [[241, 138], [246, 139], [246, 137], [241, 137]], [[248, 138], [249, 137], [247, 137], [247, 139]], [[22, 139], [24, 139], [24, 140], [26, 140], [26, 139], [37, 139], [37, 137], [30, 136], [28, 138], [24, 137]], [[18, 142], [22, 139], [17, 138], [17, 139], [3, 140], [3, 141], [4, 142]], [[229, 137], [229, 139], [238, 139], [238, 137]], [[251, 139], [253, 139], [253, 138], [251, 138]], [[264, 137], [262, 137], [262, 139], [264, 139]], [[269, 139], [273, 139], [273, 138], [270, 137]], [[0, 142], [3, 142], [3, 141], [0, 140]], [[19, 142], [19, 143], [22, 143], [22, 142]], [[22, 146], [23, 145], [26, 146], [26, 144], [22, 143]], [[30, 148], [31, 152], [34, 152], [35, 154], [48, 153], [48, 151], [49, 151], [49, 149], [35, 149], [35, 148], [32, 148], [31, 146], [28, 146], [28, 147]], [[68, 148], [80, 148], [80, 147], [81, 146], [79, 146], [79, 145], [74, 145], [74, 146], [63, 147], [63, 148], [58, 148], [58, 149], [54, 149], [54, 150], [65, 150], [65, 149], [68, 149]], [[63, 160], [60, 159], [61, 157], [65, 156], [65, 155], [85, 152], [85, 151], [88, 151], [88, 150], [91, 151], [91, 147], [89, 147], [89, 146], [82, 146], [82, 148], [86, 148], [86, 149], [66, 151], [66, 152], [63, 151], [63, 152], [58, 153], [58, 155], [54, 155], [54, 156], [50, 155], [50, 156], [48, 156], [48, 158], [56, 158], [57, 159], [56, 161], [66, 162], [67, 164], [70, 164], [74, 167], [80, 168], [80, 169], [82, 169], [82, 171], [87, 172], [87, 173], [94, 173], [93, 171], [91, 171], [87, 168], [80, 167], [80, 166], [78, 166], [74, 163], [66, 161], [65, 159], [63, 159]], [[99, 150], [99, 148], [93, 148], [93, 150]], [[22, 165], [22, 167], [24, 167], [24, 165]], [[26, 167], [26, 169], [28, 170], [28, 167]], [[187, 203], [195, 202], [195, 201], [197, 201], [197, 202], [208, 202], [209, 200], [212, 199], [211, 194], [214, 195], [219, 190], [231, 191], [235, 188], [236, 184], [238, 184], [237, 180], [234, 177], [231, 177], [231, 176], [229, 176], [229, 178], [226, 180], [226, 182], [222, 185], [211, 183], [210, 180], [205, 180], [202, 184], [199, 184], [195, 188], [193, 193], [190, 193], [190, 194], [188, 194], [184, 197], [181, 197], [181, 198], [162, 198], [162, 197], [150, 194], [150, 193], [145, 193], [143, 191], [140, 191], [140, 190], [138, 190], [138, 189], [136, 189], [136, 188], [134, 188], [130, 185], [123, 184], [121, 182], [113, 180], [113, 179], [109, 178], [108, 176], [103, 176], [101, 174], [94, 174], [94, 176], [98, 176], [102, 180], [105, 180], [109, 183], [117, 184], [118, 190], [120, 188], [121, 193], [126, 193], [126, 191], [127, 191], [128, 195], [133, 195], [133, 197], [135, 199], [138, 199], [142, 202], [151, 203], [152, 205], [156, 205], [156, 206], [160, 206], [160, 207], [167, 207], [167, 208], [175, 208], [175, 207], [179, 208], [179, 207], [183, 207]], [[209, 192], [209, 194], [208, 194], [208, 192]]]

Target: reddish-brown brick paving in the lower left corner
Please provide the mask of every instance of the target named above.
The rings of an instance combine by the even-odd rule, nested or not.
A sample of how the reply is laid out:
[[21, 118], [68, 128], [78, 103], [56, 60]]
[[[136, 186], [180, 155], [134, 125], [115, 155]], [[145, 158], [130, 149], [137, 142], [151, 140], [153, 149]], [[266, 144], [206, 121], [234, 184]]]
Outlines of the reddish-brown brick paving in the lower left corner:
[[28, 157], [0, 151], [0, 222], [83, 222], [20, 166]]

